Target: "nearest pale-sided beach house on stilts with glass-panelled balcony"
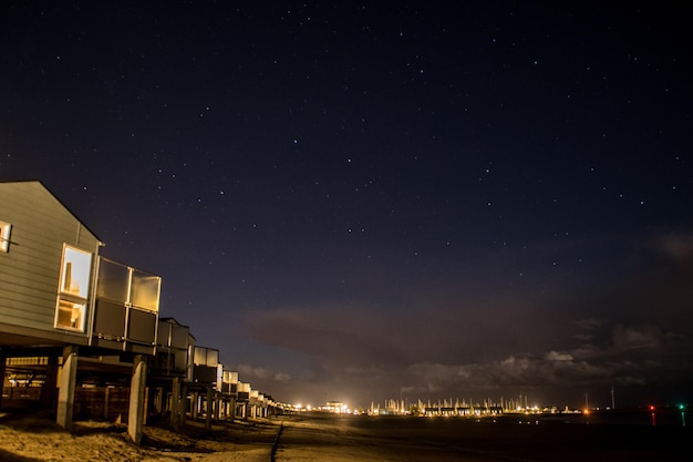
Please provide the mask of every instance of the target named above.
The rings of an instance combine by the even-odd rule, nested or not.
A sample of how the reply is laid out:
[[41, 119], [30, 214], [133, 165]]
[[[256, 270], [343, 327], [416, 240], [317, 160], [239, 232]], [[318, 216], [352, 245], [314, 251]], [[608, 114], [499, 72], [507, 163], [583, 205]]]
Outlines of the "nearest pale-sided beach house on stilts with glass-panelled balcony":
[[138, 441], [162, 278], [102, 258], [99, 237], [38, 181], [0, 183], [0, 229], [3, 378], [8, 363], [30, 371], [70, 429], [75, 389], [126, 372], [128, 431]]

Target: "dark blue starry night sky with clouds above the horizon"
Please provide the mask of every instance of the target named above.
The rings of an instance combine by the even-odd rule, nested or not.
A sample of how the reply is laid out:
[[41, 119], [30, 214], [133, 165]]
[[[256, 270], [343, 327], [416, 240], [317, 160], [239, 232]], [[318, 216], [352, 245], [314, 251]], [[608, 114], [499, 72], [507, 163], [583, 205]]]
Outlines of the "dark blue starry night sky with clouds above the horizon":
[[526, 3], [4, 1], [0, 181], [278, 401], [691, 402], [691, 14]]

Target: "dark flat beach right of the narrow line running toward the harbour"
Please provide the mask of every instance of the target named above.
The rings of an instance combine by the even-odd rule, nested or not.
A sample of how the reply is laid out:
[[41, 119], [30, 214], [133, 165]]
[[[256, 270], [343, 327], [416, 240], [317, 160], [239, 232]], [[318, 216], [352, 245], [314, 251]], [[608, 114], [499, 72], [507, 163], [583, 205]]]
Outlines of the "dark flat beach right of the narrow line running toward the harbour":
[[301, 415], [285, 420], [276, 460], [687, 462], [691, 437], [675, 425]]

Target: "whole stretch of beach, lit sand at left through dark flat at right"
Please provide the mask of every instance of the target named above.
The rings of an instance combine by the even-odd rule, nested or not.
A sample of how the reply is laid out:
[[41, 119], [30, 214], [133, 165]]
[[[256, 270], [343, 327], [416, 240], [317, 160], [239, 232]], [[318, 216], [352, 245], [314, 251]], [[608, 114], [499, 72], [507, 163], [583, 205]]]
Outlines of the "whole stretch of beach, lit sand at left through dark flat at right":
[[137, 446], [125, 425], [81, 421], [70, 434], [46, 415], [0, 411], [2, 462], [268, 462], [276, 441], [278, 462], [687, 462], [691, 437], [674, 425], [300, 415], [210, 431], [192, 421], [180, 432], [148, 424]]

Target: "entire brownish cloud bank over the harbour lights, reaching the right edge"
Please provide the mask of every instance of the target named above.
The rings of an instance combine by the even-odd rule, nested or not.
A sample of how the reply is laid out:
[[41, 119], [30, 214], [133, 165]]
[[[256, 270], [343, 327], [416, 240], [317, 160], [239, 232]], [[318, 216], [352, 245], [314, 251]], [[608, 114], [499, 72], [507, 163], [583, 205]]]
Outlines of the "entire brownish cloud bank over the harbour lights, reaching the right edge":
[[287, 370], [290, 377], [281, 383], [288, 396], [368, 403], [399, 394], [466, 399], [530, 393], [547, 400], [572, 397], [580, 404], [587, 390], [693, 383], [687, 366], [693, 254], [685, 257], [681, 236], [660, 239], [665, 243], [658, 247], [661, 251], [629, 261], [628, 271], [590, 291], [424, 290], [399, 305], [352, 301], [247, 310], [238, 327], [258, 345], [310, 365], [303, 371]]

